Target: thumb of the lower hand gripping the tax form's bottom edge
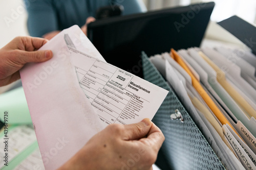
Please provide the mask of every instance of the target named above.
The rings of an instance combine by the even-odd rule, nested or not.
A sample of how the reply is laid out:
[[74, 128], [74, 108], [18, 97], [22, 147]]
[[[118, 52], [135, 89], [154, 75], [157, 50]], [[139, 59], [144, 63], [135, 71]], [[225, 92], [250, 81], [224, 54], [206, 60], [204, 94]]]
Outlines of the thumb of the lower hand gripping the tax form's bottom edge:
[[152, 122], [148, 118], [144, 118], [137, 124], [125, 125], [124, 127], [124, 140], [136, 140], [145, 137], [150, 131]]

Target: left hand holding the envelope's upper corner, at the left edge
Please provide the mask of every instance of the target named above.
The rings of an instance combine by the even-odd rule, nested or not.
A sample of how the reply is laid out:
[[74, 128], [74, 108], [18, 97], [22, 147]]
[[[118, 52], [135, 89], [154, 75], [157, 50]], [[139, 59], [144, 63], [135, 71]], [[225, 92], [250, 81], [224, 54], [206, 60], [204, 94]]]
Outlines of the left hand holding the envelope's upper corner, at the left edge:
[[43, 62], [52, 58], [52, 52], [38, 50], [47, 43], [46, 39], [16, 37], [0, 49], [0, 86], [8, 85], [20, 78], [19, 69], [28, 62]]

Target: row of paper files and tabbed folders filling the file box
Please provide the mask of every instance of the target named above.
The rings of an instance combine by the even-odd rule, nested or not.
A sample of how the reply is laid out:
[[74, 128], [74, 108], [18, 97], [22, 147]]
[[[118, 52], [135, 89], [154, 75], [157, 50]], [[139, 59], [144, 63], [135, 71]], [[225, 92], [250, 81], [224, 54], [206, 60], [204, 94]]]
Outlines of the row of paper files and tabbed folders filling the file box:
[[256, 57], [243, 54], [189, 48], [150, 58], [226, 169], [256, 169]]

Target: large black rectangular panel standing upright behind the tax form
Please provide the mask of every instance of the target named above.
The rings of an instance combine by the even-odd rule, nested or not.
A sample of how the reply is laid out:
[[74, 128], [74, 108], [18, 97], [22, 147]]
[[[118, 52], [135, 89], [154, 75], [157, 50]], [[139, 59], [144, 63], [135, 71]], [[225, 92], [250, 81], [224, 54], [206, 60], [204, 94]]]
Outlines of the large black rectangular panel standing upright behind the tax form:
[[194, 4], [97, 20], [88, 37], [106, 62], [143, 77], [141, 51], [148, 56], [200, 46], [215, 3]]

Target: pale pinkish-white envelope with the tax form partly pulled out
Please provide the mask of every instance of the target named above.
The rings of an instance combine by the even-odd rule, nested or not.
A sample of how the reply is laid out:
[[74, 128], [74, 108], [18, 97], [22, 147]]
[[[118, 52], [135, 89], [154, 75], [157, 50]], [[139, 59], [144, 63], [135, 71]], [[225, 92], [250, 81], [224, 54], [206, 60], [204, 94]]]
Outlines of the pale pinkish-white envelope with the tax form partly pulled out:
[[[78, 26], [73, 26], [69, 30], [75, 33], [78, 29]], [[75, 68], [63, 39], [66, 31], [40, 48], [52, 50], [54, 57], [51, 60], [29, 63], [20, 70], [46, 169], [60, 167], [103, 129], [77, 83]]]

